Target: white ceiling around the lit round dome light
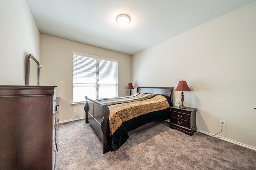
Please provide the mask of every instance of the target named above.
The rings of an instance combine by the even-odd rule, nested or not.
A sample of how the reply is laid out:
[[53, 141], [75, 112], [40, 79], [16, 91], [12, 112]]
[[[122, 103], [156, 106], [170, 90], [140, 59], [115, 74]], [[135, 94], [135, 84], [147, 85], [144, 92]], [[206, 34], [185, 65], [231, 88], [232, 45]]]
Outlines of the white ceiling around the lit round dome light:
[[[133, 55], [255, 0], [26, 0], [39, 32]], [[127, 27], [116, 16], [127, 14]]]

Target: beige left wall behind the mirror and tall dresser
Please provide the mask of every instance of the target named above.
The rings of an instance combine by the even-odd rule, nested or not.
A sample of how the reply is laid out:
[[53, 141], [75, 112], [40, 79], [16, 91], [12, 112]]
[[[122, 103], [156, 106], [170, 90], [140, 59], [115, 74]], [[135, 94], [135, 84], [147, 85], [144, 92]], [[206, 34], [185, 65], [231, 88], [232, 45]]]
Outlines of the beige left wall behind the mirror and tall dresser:
[[25, 56], [40, 61], [40, 33], [26, 1], [0, 0], [0, 85], [25, 85]]

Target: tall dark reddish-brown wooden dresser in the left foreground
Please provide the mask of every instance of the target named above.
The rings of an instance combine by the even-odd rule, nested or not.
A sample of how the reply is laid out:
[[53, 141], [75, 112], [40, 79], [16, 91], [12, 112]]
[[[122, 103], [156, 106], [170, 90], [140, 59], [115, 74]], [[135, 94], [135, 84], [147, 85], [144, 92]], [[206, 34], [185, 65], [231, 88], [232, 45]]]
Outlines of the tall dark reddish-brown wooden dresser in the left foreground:
[[55, 168], [56, 87], [0, 86], [1, 170]]

